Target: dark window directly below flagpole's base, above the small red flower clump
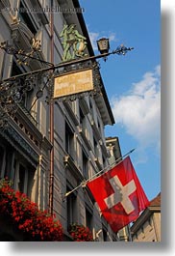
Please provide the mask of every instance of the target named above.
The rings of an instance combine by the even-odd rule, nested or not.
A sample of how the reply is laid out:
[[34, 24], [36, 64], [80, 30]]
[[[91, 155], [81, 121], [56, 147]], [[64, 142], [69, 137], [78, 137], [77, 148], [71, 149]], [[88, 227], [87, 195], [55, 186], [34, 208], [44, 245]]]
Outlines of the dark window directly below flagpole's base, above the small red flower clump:
[[[71, 188], [67, 186], [67, 191], [70, 191]], [[66, 212], [67, 212], [67, 229], [69, 226], [73, 223], [76, 222], [76, 195], [74, 193], [69, 194], [66, 197]]]

